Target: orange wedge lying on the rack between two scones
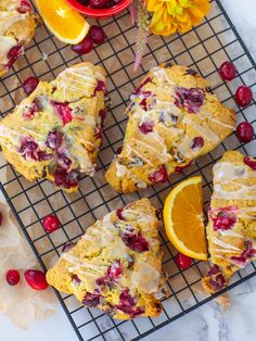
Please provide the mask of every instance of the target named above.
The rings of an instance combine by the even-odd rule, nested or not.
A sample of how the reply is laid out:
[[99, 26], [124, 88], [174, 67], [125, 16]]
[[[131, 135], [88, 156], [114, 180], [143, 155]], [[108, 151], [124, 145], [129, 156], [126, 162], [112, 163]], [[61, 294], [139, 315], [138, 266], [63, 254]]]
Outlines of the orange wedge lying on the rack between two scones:
[[164, 223], [170, 242], [179, 252], [207, 261], [201, 176], [180, 182], [169, 193]]

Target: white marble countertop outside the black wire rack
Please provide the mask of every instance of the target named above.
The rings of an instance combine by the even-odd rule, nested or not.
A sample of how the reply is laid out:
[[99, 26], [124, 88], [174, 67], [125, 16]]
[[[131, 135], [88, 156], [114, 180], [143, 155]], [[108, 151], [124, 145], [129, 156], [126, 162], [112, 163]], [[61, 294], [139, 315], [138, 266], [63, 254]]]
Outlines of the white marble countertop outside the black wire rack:
[[[222, 0], [230, 17], [256, 60], [256, 1]], [[256, 278], [230, 292], [232, 307], [223, 315], [210, 302], [144, 338], [149, 341], [255, 341]], [[26, 318], [24, 316], [24, 318]], [[0, 340], [4, 341], [75, 341], [76, 336], [61, 307], [55, 315], [34, 325], [29, 330], [15, 328], [0, 316]], [[118, 339], [113, 339], [118, 341]], [[113, 341], [110, 339], [110, 341]]]

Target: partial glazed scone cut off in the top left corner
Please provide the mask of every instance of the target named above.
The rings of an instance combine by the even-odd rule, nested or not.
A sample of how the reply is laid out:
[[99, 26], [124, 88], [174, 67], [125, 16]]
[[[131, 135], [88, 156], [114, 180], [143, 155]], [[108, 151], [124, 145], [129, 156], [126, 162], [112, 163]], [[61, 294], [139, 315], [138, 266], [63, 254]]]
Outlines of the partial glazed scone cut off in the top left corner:
[[0, 77], [34, 37], [35, 14], [27, 0], [0, 0]]

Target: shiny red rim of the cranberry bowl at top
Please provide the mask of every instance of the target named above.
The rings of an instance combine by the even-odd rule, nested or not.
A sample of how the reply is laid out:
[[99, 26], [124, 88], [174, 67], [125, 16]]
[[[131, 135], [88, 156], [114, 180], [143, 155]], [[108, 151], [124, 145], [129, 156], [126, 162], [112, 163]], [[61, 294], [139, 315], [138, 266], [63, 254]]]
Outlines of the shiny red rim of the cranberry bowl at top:
[[93, 17], [113, 16], [127, 9], [130, 5], [131, 1], [132, 0], [121, 0], [116, 5], [113, 5], [113, 8], [108, 9], [90, 9], [85, 4], [79, 3], [77, 0], [67, 0], [67, 2], [69, 2], [69, 4], [78, 12]]

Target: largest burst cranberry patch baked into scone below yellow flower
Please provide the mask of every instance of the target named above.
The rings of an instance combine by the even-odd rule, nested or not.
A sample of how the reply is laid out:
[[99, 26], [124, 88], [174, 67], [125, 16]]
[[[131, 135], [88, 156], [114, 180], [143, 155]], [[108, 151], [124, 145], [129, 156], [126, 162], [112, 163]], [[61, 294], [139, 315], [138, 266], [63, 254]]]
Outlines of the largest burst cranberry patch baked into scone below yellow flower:
[[204, 103], [205, 93], [201, 88], [179, 87], [175, 94], [175, 105], [187, 109], [189, 113], [195, 114]]

